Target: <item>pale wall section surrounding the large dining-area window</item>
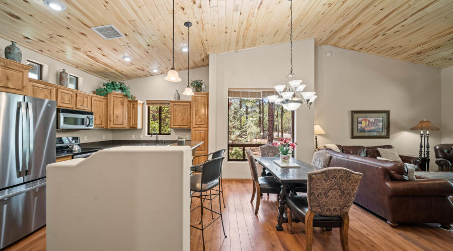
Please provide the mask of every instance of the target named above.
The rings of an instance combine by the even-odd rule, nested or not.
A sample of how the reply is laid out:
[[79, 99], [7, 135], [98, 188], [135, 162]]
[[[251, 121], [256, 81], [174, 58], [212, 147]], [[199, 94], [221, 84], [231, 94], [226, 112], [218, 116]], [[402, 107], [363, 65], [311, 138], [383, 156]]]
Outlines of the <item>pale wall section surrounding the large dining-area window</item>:
[[[307, 85], [306, 91], [314, 90], [314, 55], [314, 39], [294, 42], [293, 72]], [[273, 88], [284, 84], [289, 73], [289, 43], [219, 54], [215, 64], [213, 59], [209, 58], [209, 67], [215, 67], [215, 109], [211, 109], [210, 102], [209, 117], [216, 118], [216, 125], [209, 126], [210, 131], [215, 130], [215, 139], [209, 138], [209, 144], [215, 144], [218, 150], [228, 146], [228, 88]], [[310, 162], [314, 153], [313, 124], [313, 107], [297, 109], [295, 137], [299, 145], [296, 157]], [[251, 178], [247, 162], [223, 163], [223, 178]]]

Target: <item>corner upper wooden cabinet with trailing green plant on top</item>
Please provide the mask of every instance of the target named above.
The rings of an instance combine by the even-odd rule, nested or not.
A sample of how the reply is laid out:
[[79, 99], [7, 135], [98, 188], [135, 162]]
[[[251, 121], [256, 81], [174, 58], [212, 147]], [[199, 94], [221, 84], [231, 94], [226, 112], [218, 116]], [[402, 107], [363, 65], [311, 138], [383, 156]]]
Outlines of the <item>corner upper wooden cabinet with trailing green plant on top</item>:
[[127, 97], [122, 93], [109, 93], [109, 128], [127, 128]]

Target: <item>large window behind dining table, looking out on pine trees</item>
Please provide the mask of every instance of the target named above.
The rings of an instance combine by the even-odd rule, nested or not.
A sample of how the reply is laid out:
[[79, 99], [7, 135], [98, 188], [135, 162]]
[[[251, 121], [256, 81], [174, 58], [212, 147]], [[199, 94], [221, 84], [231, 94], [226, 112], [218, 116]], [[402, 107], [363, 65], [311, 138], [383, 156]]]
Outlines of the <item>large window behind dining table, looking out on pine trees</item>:
[[270, 104], [269, 107], [264, 96], [272, 94], [272, 91], [229, 91], [229, 161], [247, 161], [246, 149], [260, 156], [261, 145], [273, 142], [276, 138], [294, 138], [294, 112], [282, 106]]

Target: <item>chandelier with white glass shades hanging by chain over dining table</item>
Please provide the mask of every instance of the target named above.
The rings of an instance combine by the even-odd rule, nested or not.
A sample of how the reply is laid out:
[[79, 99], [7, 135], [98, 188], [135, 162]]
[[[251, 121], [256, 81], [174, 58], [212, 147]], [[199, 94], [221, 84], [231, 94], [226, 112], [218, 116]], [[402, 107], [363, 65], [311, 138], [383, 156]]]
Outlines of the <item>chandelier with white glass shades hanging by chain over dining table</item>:
[[286, 110], [295, 110], [299, 108], [301, 104], [305, 104], [309, 109], [316, 99], [316, 93], [313, 91], [304, 91], [305, 84], [301, 84], [302, 80], [295, 79], [294, 73], [292, 73], [292, 0], [291, 2], [291, 33], [289, 35], [290, 41], [290, 64], [289, 74], [286, 75], [287, 83], [282, 85], [274, 86], [278, 95], [268, 96], [267, 99], [272, 104], [281, 105]]

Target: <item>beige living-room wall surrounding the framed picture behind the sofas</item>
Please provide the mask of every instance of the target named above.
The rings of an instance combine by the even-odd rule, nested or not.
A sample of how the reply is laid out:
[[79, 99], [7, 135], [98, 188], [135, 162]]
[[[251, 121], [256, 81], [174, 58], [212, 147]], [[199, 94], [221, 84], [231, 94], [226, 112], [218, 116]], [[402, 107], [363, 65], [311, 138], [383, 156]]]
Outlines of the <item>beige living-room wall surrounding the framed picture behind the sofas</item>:
[[[440, 69], [332, 46], [317, 47], [315, 55], [315, 122], [326, 132], [319, 145], [388, 144], [418, 155], [420, 132], [409, 129], [423, 119], [440, 127]], [[351, 110], [390, 110], [390, 139], [351, 139]], [[430, 170], [437, 170], [432, 147], [440, 139], [440, 132], [430, 134]]]

